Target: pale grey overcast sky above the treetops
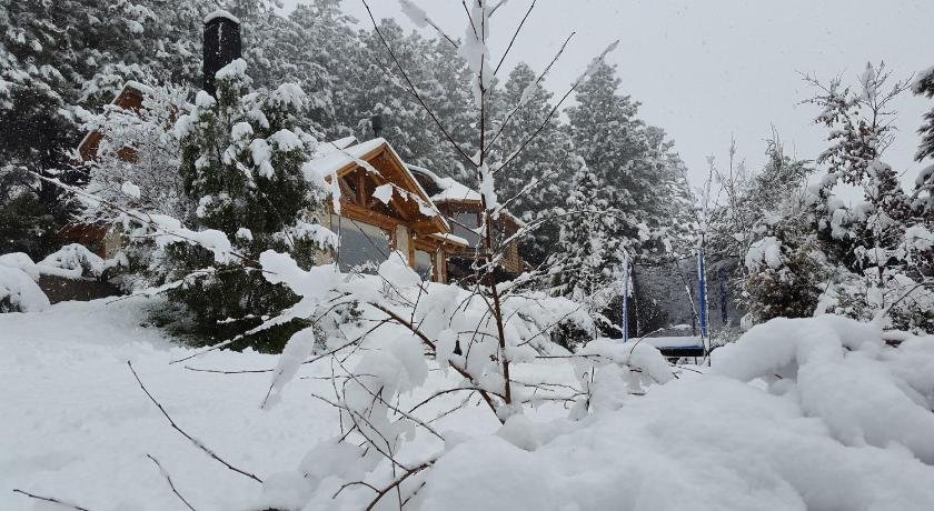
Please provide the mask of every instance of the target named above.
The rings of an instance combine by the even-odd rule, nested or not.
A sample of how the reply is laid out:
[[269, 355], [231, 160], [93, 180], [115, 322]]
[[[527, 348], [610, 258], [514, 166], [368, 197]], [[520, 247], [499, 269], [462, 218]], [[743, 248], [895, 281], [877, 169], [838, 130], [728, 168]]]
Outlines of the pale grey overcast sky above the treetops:
[[[417, 3], [448, 33], [463, 36], [459, 0]], [[494, 17], [496, 59], [528, 4], [511, 0]], [[369, 26], [360, 0], [344, 6]], [[370, 6], [377, 18], [411, 27], [397, 1]], [[507, 62], [524, 60], [539, 70], [576, 31], [548, 80], [560, 91], [619, 39], [609, 60], [618, 66], [620, 90], [642, 101], [647, 122], [675, 139], [699, 183], [706, 157], [723, 161], [731, 137], [749, 166], [761, 166], [772, 126], [786, 149], [815, 158], [826, 146], [825, 131], [812, 122], [814, 107], [798, 104], [812, 93], [798, 72], [855, 81], [867, 60], [884, 60], [894, 77], [906, 78], [934, 66], [932, 20], [934, 0], [538, 0]], [[886, 157], [907, 170], [905, 180], [920, 168], [912, 161], [915, 130], [931, 106], [911, 94], [896, 103], [901, 133]]]

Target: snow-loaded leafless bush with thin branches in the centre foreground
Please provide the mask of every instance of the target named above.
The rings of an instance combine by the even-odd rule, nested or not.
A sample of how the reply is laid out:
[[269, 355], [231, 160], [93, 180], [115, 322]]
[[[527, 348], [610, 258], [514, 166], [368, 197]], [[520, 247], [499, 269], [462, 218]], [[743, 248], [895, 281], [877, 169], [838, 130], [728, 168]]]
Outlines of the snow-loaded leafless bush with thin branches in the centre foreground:
[[[488, 410], [481, 420], [498, 438], [535, 451], [547, 437], [525, 414], [530, 407], [564, 404], [569, 420], [582, 420], [617, 410], [647, 387], [674, 378], [660, 353], [639, 341], [597, 340], [577, 353], [554, 344], [548, 332], [559, 320], [594, 331], [582, 305], [564, 298], [505, 292], [499, 322], [486, 297], [421, 282], [398, 252], [376, 275], [341, 275], [334, 267], [305, 271], [274, 252], [261, 261], [271, 279], [302, 295], [286, 317], [270, 323], [301, 313], [318, 325], [289, 340], [264, 407], [289, 392], [287, 383], [301, 364], [330, 364], [337, 387], [314, 397], [334, 407], [341, 424], [341, 434], [315, 447], [295, 471], [265, 481], [262, 505], [352, 509], [378, 503], [389, 491], [414, 497], [451, 449], [480, 440], [436, 428], [444, 417], [476, 417], [474, 402]], [[334, 317], [350, 303], [359, 310], [355, 320]], [[572, 363], [576, 383], [552, 375], [556, 362]], [[453, 377], [453, 387], [430, 387], [434, 365]], [[413, 508], [418, 505], [413, 501]]]

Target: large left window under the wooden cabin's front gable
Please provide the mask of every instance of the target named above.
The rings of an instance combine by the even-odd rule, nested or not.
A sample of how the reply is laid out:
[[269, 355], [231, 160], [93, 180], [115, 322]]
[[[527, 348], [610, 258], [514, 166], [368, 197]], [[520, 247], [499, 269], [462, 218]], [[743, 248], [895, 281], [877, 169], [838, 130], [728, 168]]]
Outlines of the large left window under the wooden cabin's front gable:
[[375, 274], [393, 252], [389, 233], [376, 226], [332, 214], [331, 230], [340, 237], [337, 249], [340, 271]]

